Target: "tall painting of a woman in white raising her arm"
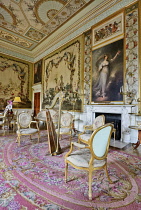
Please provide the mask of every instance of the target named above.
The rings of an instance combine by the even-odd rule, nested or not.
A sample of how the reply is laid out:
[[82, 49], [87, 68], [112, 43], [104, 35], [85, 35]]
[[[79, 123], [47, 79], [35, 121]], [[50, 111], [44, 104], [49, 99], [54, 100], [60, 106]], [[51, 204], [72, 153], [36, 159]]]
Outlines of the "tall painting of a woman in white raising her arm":
[[123, 39], [92, 51], [92, 102], [123, 101]]

